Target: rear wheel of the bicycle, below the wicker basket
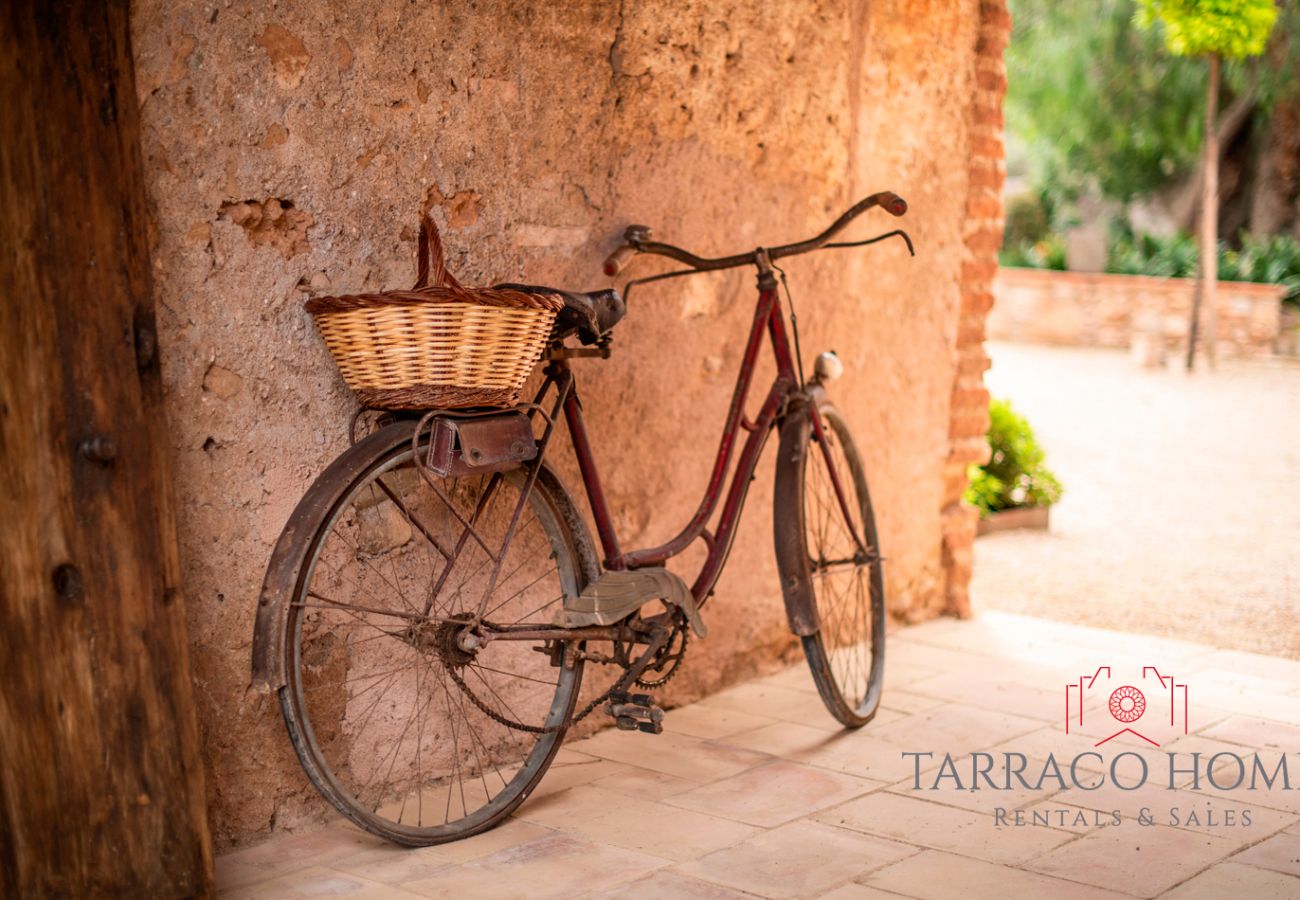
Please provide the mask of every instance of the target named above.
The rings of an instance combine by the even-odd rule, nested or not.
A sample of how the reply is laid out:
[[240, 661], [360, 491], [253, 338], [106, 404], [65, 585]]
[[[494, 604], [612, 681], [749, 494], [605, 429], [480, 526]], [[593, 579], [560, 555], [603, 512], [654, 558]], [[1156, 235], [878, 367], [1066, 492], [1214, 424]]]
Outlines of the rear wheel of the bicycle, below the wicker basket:
[[[376, 835], [428, 845], [493, 827], [532, 792], [582, 682], [581, 661], [555, 665], [563, 642], [467, 650], [460, 623], [481, 610], [502, 626], [552, 624], [564, 594], [595, 576], [595, 557], [543, 468], [490, 587], [495, 561], [420, 477], [412, 433], [398, 423], [356, 443], [299, 506], [321, 512], [291, 520], [315, 536], [285, 622], [280, 698], [329, 802]], [[524, 473], [438, 483], [460, 516], [480, 509], [476, 529], [495, 551]]]

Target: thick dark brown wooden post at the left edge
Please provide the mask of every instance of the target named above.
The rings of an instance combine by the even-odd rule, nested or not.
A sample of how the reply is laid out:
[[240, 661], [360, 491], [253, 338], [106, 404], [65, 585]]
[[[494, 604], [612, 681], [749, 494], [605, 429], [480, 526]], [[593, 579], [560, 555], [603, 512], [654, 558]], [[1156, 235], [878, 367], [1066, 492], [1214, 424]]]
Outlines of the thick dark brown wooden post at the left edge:
[[209, 896], [127, 4], [3, 4], [0, 104], [0, 896]]

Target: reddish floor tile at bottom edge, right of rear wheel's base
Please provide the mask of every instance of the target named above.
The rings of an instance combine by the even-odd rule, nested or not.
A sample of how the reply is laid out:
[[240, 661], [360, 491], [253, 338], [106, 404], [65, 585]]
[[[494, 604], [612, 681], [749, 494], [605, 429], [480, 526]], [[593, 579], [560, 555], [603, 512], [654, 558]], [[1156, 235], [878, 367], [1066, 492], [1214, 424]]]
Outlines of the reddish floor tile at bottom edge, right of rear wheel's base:
[[634, 880], [664, 860], [555, 834], [445, 869], [404, 890], [425, 897], [568, 900]]

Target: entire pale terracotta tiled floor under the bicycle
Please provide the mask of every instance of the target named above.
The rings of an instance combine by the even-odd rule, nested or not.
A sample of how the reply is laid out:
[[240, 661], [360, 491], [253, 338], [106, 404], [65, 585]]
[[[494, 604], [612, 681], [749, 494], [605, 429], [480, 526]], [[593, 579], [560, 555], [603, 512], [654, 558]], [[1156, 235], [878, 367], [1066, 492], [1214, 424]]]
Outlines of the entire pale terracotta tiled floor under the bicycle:
[[[1087, 695], [1082, 724], [1075, 704], [1066, 734], [1066, 684], [1101, 666], [1161, 710], [1134, 723], [1144, 739], [1095, 748], [1121, 727], [1105, 692]], [[1149, 666], [1188, 685], [1187, 734], [1182, 701], [1175, 726], [1164, 717]], [[517, 815], [485, 835], [407, 851], [339, 823], [221, 857], [218, 890], [268, 900], [1300, 896], [1300, 662], [988, 613], [892, 635], [884, 709], [861, 731], [835, 728], [801, 667], [673, 710], [666, 728], [569, 744]], [[1266, 788], [1258, 774], [1249, 789], [1256, 752], [1270, 776], [1290, 753], [1294, 789], [1280, 778]], [[1247, 779], [1234, 788], [1238, 758]], [[1061, 779], [1040, 784], [1052, 761]], [[1026, 783], [1006, 788], [1005, 767], [1018, 763]], [[1212, 763], [1228, 789], [1206, 779]]]

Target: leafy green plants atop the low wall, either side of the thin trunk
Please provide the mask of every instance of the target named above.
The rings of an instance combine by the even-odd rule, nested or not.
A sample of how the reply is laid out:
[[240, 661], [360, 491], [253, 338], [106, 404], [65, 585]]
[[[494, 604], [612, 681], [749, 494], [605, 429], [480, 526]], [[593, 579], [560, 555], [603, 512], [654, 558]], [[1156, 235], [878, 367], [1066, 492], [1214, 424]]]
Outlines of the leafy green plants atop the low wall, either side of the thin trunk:
[[[1234, 250], [1219, 243], [1218, 276], [1222, 281], [1283, 285], [1287, 302], [1300, 302], [1300, 241], [1286, 234], [1256, 237], [1243, 233], [1240, 245]], [[1191, 234], [1157, 238], [1134, 233], [1121, 224], [1110, 233], [1106, 272], [1195, 278], [1199, 259], [1196, 239]]]

